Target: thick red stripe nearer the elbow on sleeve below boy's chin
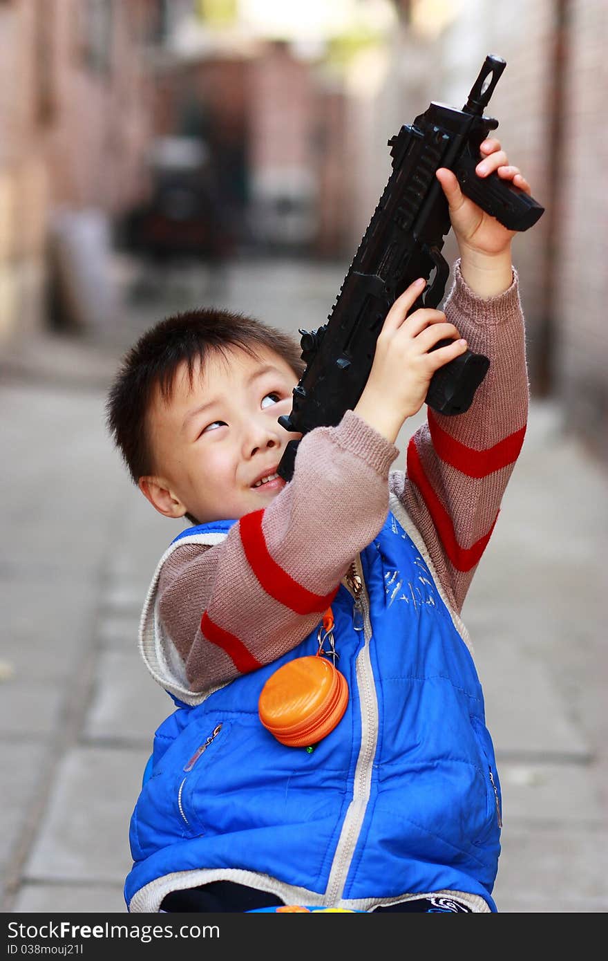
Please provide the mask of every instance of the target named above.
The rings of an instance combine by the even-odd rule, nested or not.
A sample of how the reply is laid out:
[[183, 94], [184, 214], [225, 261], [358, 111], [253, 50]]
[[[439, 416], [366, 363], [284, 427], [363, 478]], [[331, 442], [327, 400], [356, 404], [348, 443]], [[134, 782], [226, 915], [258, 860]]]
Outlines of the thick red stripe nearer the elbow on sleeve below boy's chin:
[[313, 594], [283, 571], [266, 547], [262, 530], [263, 516], [263, 509], [255, 510], [252, 514], [245, 514], [238, 522], [243, 550], [260, 585], [271, 598], [289, 607], [296, 614], [311, 614], [313, 611], [327, 610], [338, 588], [323, 596]]

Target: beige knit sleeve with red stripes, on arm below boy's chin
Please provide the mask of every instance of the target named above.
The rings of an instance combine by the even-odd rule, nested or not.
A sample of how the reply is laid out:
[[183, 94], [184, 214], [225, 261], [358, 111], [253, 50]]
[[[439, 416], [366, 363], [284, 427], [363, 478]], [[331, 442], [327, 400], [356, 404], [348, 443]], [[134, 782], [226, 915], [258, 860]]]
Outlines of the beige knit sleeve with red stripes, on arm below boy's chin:
[[255, 670], [321, 620], [388, 513], [397, 448], [352, 410], [305, 434], [292, 480], [212, 547], [185, 544], [158, 583], [163, 630], [193, 691]]

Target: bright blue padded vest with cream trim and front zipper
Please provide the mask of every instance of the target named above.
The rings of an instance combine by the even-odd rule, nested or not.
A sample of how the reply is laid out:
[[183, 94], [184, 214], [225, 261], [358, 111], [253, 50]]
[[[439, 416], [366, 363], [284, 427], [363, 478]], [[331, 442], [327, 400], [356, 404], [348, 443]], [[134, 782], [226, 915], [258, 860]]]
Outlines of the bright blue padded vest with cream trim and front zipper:
[[[216, 543], [231, 523], [176, 542]], [[285, 903], [370, 910], [460, 892], [496, 911], [499, 776], [467, 632], [396, 498], [357, 563], [363, 618], [345, 583], [331, 604], [349, 704], [312, 752], [280, 744], [257, 701], [282, 663], [316, 653], [316, 630], [280, 660], [188, 694], [155, 614], [158, 569], [140, 643], [178, 709], [158, 728], [134, 808], [130, 911], [218, 879]]]

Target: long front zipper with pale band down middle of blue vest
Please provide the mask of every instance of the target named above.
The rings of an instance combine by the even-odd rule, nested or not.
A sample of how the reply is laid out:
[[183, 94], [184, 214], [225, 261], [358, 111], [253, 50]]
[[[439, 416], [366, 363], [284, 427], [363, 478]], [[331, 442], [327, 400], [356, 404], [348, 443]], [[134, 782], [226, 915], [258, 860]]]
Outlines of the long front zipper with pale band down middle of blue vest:
[[[370, 603], [363, 580], [360, 557], [357, 556], [353, 561], [345, 580], [348, 590], [353, 595], [353, 628], [365, 631], [365, 643], [357, 654], [355, 664], [356, 684], [361, 704], [361, 745], [354, 769], [353, 799], [344, 817], [329, 871], [325, 901], [332, 905], [338, 904], [344, 895], [344, 887], [351, 870], [354, 850], [370, 798], [377, 749], [377, 694], [370, 657], [372, 637]], [[359, 618], [361, 627], [357, 627]]]

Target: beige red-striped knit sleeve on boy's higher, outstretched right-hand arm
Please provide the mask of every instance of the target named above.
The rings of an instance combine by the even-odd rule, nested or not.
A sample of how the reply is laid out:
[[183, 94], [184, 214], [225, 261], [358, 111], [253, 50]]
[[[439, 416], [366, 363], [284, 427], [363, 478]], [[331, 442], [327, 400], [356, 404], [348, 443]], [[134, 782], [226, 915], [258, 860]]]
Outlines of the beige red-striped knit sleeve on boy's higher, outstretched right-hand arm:
[[420, 530], [450, 603], [460, 612], [496, 524], [523, 445], [528, 409], [518, 277], [497, 297], [476, 297], [456, 262], [445, 313], [469, 349], [490, 359], [469, 410], [427, 408], [407, 447], [406, 472], [390, 487]]

